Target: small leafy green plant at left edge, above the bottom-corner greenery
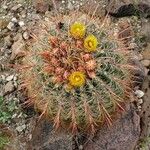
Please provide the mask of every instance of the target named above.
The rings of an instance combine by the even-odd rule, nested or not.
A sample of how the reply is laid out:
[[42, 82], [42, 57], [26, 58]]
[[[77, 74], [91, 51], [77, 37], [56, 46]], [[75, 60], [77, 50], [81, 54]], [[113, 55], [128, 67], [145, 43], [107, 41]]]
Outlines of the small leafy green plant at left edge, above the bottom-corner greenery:
[[16, 102], [11, 100], [8, 103], [4, 101], [3, 97], [0, 97], [0, 122], [10, 123], [14, 111], [18, 109]]

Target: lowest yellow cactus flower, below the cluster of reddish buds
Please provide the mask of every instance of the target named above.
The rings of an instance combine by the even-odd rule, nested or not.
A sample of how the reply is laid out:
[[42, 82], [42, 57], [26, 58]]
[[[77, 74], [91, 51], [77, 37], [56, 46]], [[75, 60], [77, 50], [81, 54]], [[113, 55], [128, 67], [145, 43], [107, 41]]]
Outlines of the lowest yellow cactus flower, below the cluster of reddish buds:
[[69, 84], [74, 87], [80, 87], [85, 84], [85, 75], [83, 72], [76, 71], [69, 76]]

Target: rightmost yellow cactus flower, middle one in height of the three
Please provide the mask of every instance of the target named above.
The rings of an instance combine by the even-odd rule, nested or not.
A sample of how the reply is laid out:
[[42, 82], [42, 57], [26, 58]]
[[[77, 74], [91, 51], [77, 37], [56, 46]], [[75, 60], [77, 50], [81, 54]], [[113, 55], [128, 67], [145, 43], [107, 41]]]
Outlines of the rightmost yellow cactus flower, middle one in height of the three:
[[96, 51], [97, 45], [98, 45], [98, 41], [94, 35], [89, 35], [84, 40], [84, 48], [86, 48], [88, 52]]

